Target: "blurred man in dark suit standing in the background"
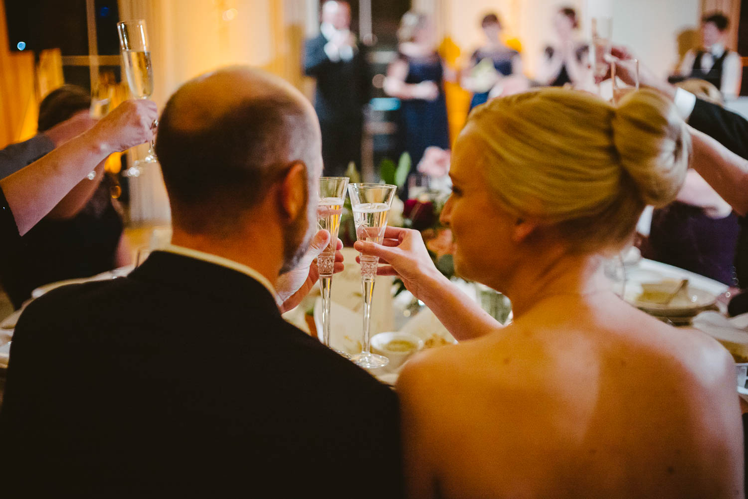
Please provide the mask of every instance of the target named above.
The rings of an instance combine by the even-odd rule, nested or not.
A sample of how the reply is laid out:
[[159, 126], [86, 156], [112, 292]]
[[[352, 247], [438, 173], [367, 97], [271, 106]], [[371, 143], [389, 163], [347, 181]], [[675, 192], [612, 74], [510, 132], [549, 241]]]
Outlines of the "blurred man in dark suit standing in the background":
[[342, 176], [351, 161], [361, 167], [362, 106], [369, 78], [350, 24], [348, 3], [325, 1], [319, 35], [304, 44], [304, 73], [317, 81], [314, 109], [322, 128], [325, 176]]

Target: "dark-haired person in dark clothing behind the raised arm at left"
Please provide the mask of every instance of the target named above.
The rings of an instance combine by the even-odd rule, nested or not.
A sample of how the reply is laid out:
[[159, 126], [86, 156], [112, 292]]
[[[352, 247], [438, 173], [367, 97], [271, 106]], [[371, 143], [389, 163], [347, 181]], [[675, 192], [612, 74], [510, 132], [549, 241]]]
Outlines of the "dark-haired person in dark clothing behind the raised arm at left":
[[[53, 90], [40, 103], [38, 130], [43, 134], [65, 120], [88, 117], [90, 107], [91, 97], [81, 87]], [[25, 235], [22, 252], [0, 259], [0, 282], [16, 309], [40, 285], [130, 263], [122, 219], [110, 195], [111, 180], [103, 163], [94, 171], [94, 179], [79, 182]]]

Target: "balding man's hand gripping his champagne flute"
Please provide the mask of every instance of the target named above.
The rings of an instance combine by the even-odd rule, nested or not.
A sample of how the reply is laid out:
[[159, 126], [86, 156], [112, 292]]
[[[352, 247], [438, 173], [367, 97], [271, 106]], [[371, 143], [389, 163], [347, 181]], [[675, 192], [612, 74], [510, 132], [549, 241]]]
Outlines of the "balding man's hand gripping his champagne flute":
[[[309, 244], [309, 249], [307, 249], [301, 261], [298, 262], [296, 268], [289, 270], [278, 278], [276, 292], [278, 293], [278, 303], [281, 303], [281, 313], [293, 309], [312, 291], [314, 284], [319, 279], [316, 258], [327, 247], [329, 241], [329, 232], [326, 230], [317, 232]], [[343, 253], [340, 252], [340, 249], [343, 249], [343, 243], [338, 239], [335, 251], [335, 273], [343, 271]]]

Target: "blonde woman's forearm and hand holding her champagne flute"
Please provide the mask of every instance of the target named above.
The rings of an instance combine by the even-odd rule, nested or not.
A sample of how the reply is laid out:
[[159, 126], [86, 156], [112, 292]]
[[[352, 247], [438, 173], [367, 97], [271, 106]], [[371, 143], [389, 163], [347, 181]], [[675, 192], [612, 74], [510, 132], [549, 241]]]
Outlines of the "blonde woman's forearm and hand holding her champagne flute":
[[384, 263], [378, 275], [402, 279], [405, 288], [426, 303], [458, 341], [503, 327], [437, 270], [420, 232], [387, 227], [383, 245], [358, 241], [354, 247], [364, 255], [378, 256]]

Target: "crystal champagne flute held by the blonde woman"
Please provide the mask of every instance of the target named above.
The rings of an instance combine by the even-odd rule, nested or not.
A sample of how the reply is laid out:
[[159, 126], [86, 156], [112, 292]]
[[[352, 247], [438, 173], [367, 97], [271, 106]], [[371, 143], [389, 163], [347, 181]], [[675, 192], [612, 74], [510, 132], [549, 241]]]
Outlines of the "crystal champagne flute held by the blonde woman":
[[[396, 190], [396, 185], [386, 184], [351, 184], [348, 186], [358, 241], [381, 244], [384, 240], [384, 229], [387, 228], [387, 212], [390, 211], [390, 205], [392, 205]], [[356, 365], [368, 369], [382, 368], [390, 362], [387, 357], [371, 353], [369, 343], [372, 295], [378, 263], [378, 257], [361, 255], [361, 288], [364, 293], [364, 342], [361, 353], [353, 356], [351, 360]]]

